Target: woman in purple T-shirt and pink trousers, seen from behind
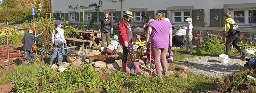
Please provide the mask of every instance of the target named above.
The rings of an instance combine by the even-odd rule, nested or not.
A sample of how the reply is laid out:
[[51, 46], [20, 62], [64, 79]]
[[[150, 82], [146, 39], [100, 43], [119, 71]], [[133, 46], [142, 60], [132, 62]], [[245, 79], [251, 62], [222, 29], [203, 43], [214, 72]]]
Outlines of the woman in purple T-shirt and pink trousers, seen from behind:
[[146, 43], [149, 41], [149, 36], [156, 72], [162, 78], [161, 66], [163, 68], [163, 74], [167, 75], [168, 63], [166, 61], [166, 52], [168, 51], [168, 47], [170, 49], [172, 48], [172, 25], [164, 20], [163, 14], [157, 14], [156, 20], [149, 24]]

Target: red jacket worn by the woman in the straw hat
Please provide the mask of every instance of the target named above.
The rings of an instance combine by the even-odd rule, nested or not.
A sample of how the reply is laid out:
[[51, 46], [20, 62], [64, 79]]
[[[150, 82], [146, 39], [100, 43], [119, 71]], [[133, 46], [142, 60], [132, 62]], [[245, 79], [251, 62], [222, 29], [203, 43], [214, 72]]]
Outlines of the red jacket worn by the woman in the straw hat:
[[[132, 24], [130, 24], [130, 26], [132, 29]], [[124, 21], [118, 24], [118, 38], [119, 38], [120, 45], [124, 45], [124, 41], [127, 41], [129, 43], [129, 30], [127, 28], [126, 22]], [[132, 42], [132, 40], [130, 42]]]

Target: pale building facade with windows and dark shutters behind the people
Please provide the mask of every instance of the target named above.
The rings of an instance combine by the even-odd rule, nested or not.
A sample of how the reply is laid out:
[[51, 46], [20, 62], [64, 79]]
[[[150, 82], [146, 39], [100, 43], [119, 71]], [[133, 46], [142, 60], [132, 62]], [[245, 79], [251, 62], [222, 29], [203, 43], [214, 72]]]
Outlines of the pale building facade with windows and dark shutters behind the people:
[[[219, 36], [224, 33], [224, 12], [230, 12], [232, 18], [240, 27], [240, 31], [244, 36], [256, 36], [256, 0], [51, 0], [51, 7], [53, 13], [58, 16], [64, 17], [70, 23], [82, 24], [83, 11], [78, 10], [79, 6], [88, 6], [90, 4], [98, 4], [102, 1], [102, 6], [99, 7], [97, 15], [97, 22], [100, 24], [101, 19], [104, 17], [104, 12], [110, 12], [110, 18], [114, 21], [114, 25], [118, 24], [122, 18], [122, 12], [130, 10], [133, 12], [133, 26], [142, 27], [141, 14], [145, 14], [149, 18], [154, 18], [156, 12], [164, 12], [166, 18], [175, 28], [186, 25], [184, 21], [186, 18], [193, 19], [193, 34], [198, 33], [218, 33]], [[99, 4], [98, 4], [99, 5]], [[72, 9], [77, 7], [77, 9]], [[92, 18], [94, 6], [89, 7], [85, 12], [85, 20], [87, 23]], [[194, 35], [195, 37], [198, 34]], [[254, 36], [252, 36], [254, 35]], [[196, 40], [196, 38], [193, 38]], [[203, 39], [199, 39], [202, 42]], [[242, 38], [243, 41], [250, 40]], [[200, 43], [198, 43], [200, 44]]]

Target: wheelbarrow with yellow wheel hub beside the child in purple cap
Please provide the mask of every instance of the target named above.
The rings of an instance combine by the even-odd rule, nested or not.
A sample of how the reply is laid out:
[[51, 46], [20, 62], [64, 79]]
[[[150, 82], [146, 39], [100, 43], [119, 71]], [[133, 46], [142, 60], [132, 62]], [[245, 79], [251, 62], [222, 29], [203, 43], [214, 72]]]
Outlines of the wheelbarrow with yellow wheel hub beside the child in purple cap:
[[[76, 47], [77, 46], [65, 47], [62, 54], [62, 60], [65, 57], [69, 63], [72, 63], [73, 61], [75, 61], [78, 58], [78, 56], [80, 56], [75, 51], [73, 51]], [[44, 52], [47, 55], [52, 55], [52, 50], [46, 51], [39, 47], [33, 47], [33, 49]]]

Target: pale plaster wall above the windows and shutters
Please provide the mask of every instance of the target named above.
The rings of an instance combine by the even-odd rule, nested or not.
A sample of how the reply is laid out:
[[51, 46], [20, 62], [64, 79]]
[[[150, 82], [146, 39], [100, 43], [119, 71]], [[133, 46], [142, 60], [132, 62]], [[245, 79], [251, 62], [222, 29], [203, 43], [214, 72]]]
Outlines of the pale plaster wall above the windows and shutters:
[[[117, 0], [118, 1], [118, 0]], [[102, 0], [102, 7], [100, 11], [116, 9], [121, 11], [121, 1], [113, 3], [112, 1]], [[52, 0], [52, 12], [55, 11], [74, 11], [68, 6], [88, 6], [96, 3], [98, 0]], [[224, 4], [242, 4], [242, 3], [256, 3], [256, 0], [124, 0], [122, 1], [122, 11], [130, 10], [130, 8], [148, 8], [148, 10], [166, 10], [170, 6], [194, 6], [194, 9], [204, 9], [205, 24], [210, 25], [210, 9], [224, 8]], [[93, 10], [94, 7], [88, 8]], [[82, 12], [82, 10], [75, 10]], [[168, 12], [168, 10], [167, 10]], [[167, 15], [170, 16], [170, 15]]]

